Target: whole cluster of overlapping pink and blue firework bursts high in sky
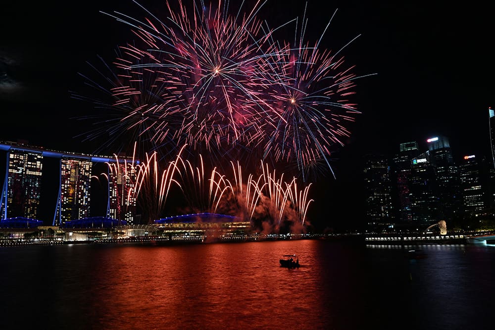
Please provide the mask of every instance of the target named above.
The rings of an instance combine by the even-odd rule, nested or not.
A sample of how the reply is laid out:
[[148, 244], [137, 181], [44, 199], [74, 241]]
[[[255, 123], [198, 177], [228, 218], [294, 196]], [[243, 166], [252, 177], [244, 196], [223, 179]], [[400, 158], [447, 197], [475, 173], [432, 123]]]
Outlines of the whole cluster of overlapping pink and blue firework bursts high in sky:
[[[113, 84], [109, 105], [119, 110], [105, 121], [106, 134], [129, 131], [167, 154], [188, 144], [185, 153], [206, 150], [223, 170], [225, 159], [261, 154], [263, 162], [296, 163], [304, 181], [308, 169], [321, 164], [332, 171], [331, 154], [344, 145], [346, 124], [359, 113], [350, 97], [360, 77], [344, 65], [344, 47], [320, 46], [330, 22], [310, 43], [305, 14], [300, 27], [298, 19], [275, 29], [258, 19], [266, 1], [234, 14], [229, 1], [193, 0], [191, 7], [166, 1], [164, 19], [134, 2], [148, 18], [104, 13], [137, 38], [119, 48], [117, 73], [105, 77]], [[277, 40], [277, 30], [292, 22], [295, 40]]]

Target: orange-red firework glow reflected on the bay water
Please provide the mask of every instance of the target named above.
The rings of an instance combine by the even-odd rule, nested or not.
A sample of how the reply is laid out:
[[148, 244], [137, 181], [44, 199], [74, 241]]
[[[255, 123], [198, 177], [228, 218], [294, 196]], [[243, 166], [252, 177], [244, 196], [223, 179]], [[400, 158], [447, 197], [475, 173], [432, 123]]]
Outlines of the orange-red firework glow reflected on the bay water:
[[[309, 329], [324, 308], [311, 279], [319, 275], [309, 267], [313, 244], [102, 249], [85, 309], [101, 329], [281, 329], [288, 313], [300, 312], [308, 315], [292, 320], [292, 329]], [[301, 267], [280, 267], [280, 256], [294, 252], [307, 254]]]

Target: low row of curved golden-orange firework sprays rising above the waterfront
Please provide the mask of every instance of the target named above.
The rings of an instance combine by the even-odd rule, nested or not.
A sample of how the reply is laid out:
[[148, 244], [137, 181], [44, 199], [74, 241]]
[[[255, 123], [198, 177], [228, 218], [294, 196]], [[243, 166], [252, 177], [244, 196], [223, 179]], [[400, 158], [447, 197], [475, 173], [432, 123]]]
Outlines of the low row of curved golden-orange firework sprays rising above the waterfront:
[[[186, 145], [165, 169], [160, 168], [156, 152], [147, 155], [142, 162], [134, 157], [132, 161], [126, 159], [122, 162], [115, 156], [115, 162], [107, 162], [108, 180], [111, 184], [117, 181], [122, 184], [119, 189], [111, 189], [112, 198], [122, 206], [134, 207], [137, 202], [148, 224], [161, 218], [171, 189], [177, 187], [183, 192], [188, 205], [199, 213], [221, 210], [250, 222], [262, 218], [271, 221], [270, 226], [276, 231], [283, 221], [304, 226], [312, 201], [307, 198], [311, 185], [299, 191], [296, 178], [285, 182], [284, 174], [277, 178], [276, 171], [270, 172], [268, 164], [262, 166], [263, 173], [257, 178], [253, 174], [245, 177], [239, 162], [231, 162], [231, 178], [217, 168], [207, 175], [202, 162], [196, 166], [183, 158], [185, 148]], [[177, 201], [177, 196], [174, 197]], [[123, 200], [125, 203], [121, 202]], [[124, 211], [119, 209], [118, 215], [121, 212]]]

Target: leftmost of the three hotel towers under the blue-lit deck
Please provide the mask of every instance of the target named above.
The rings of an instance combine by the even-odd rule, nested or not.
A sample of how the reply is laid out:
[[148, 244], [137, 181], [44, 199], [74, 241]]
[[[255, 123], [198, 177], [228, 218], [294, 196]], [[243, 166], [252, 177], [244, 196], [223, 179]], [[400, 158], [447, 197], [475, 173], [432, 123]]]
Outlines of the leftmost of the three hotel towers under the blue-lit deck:
[[40, 206], [43, 155], [20, 149], [7, 151], [6, 177], [2, 189], [2, 218], [37, 219]]

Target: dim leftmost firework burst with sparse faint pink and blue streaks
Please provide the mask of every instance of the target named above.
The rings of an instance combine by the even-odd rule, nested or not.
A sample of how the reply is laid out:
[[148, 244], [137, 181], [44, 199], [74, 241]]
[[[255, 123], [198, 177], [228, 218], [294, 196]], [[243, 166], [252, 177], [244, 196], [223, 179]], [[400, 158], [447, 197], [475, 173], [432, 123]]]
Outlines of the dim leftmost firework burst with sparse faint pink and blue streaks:
[[[117, 56], [122, 56], [120, 49], [116, 51]], [[79, 134], [83, 141], [102, 141], [99, 143], [96, 152], [113, 153], [136, 153], [145, 157], [145, 153], [159, 150], [160, 155], [176, 153], [177, 148], [165, 150], [175, 146], [172, 140], [156, 143], [155, 135], [160, 132], [156, 127], [162, 125], [162, 134], [172, 139], [172, 134], [167, 134], [170, 130], [180, 127], [182, 115], [177, 109], [169, 106], [167, 100], [160, 97], [163, 86], [153, 85], [153, 79], [147, 78], [141, 81], [128, 79], [123, 73], [115, 73], [115, 68], [109, 66], [99, 57], [97, 64], [89, 63], [93, 74], [80, 74], [84, 79], [85, 88], [92, 96], [84, 93], [71, 91], [74, 99], [94, 104], [98, 112], [94, 115], [84, 115], [77, 120], [91, 120], [94, 129]], [[149, 71], [136, 68], [135, 73], [141, 72], [143, 76], [150, 75]], [[146, 73], [146, 75], [145, 75]], [[156, 76], [156, 74], [155, 74]], [[152, 83], [153, 82], [153, 83]], [[160, 92], [158, 92], [160, 91]], [[95, 93], [96, 92], [96, 93]], [[166, 111], [163, 111], [167, 108]], [[129, 141], [138, 143], [136, 150]]]

